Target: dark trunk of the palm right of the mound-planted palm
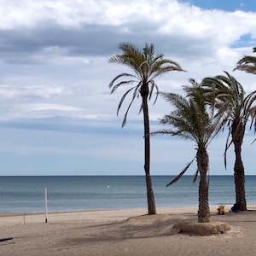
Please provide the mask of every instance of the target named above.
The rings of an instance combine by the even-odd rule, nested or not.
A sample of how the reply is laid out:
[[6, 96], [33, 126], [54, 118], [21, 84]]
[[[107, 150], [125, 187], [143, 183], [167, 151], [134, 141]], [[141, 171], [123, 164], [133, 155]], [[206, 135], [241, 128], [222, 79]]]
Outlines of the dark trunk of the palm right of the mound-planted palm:
[[[236, 203], [239, 205], [240, 211], [247, 211], [246, 191], [245, 191], [245, 172], [241, 160], [241, 144], [244, 134], [244, 127], [234, 122], [232, 127], [232, 138], [235, 147], [235, 166], [234, 166], [234, 180], [236, 188]], [[238, 130], [239, 129], [239, 130]]]

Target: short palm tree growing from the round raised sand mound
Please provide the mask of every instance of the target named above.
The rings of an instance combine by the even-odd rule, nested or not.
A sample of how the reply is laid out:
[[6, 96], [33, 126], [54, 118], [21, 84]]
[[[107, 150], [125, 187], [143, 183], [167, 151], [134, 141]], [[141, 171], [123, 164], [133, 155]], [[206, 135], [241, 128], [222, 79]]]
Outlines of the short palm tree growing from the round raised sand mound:
[[172, 135], [195, 142], [195, 158], [166, 186], [177, 182], [196, 159], [197, 171], [195, 172], [194, 182], [200, 173], [198, 222], [207, 223], [210, 221], [207, 180], [209, 157], [207, 147], [223, 124], [221, 123], [221, 117], [214, 115], [212, 109], [207, 105], [201, 84], [197, 84], [193, 79], [190, 79], [190, 82], [192, 86], [183, 86], [183, 89], [187, 93], [189, 92], [189, 96], [185, 97], [166, 92], [161, 93], [161, 96], [167, 102], [171, 103], [174, 110], [160, 119], [160, 124], [171, 125], [172, 127], [170, 129], [155, 131], [151, 134]]

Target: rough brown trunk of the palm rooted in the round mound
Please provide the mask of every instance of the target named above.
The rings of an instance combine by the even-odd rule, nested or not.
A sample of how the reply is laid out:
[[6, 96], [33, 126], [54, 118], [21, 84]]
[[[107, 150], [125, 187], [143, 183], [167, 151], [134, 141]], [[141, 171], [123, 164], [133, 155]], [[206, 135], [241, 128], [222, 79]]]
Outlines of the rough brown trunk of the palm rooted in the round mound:
[[208, 154], [207, 149], [203, 146], [198, 148], [197, 154], [197, 167], [200, 172], [199, 183], [199, 207], [198, 207], [198, 222], [207, 223], [210, 222], [210, 208], [208, 201]]

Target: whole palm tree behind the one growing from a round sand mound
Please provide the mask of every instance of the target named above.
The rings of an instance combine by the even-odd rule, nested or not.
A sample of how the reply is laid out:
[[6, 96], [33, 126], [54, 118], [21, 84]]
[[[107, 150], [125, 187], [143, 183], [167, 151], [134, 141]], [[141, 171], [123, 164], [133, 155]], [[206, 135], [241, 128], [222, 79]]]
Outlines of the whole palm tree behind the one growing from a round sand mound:
[[256, 99], [256, 90], [246, 96], [242, 85], [230, 73], [224, 73], [225, 75], [203, 79], [202, 86], [214, 98], [212, 102], [218, 109], [218, 115], [223, 116], [224, 122], [228, 126], [229, 133], [224, 149], [224, 166], [226, 167], [227, 150], [233, 143], [236, 154], [234, 166], [236, 203], [240, 206], [241, 211], [246, 211], [245, 172], [241, 160], [241, 145], [247, 121], [255, 113], [253, 102]]

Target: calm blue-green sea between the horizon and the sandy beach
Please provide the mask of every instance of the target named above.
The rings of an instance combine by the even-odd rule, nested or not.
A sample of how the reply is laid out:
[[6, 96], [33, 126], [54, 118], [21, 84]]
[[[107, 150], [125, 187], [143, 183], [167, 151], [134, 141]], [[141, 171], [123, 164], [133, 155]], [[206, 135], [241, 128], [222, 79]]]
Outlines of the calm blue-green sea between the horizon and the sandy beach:
[[[197, 207], [198, 181], [183, 176], [152, 176], [156, 207]], [[199, 178], [198, 178], [199, 179]], [[246, 176], [247, 204], [256, 204], [256, 176]], [[0, 177], [0, 213], [73, 212], [145, 208], [144, 176], [9, 176]], [[210, 206], [233, 205], [233, 176], [209, 177]], [[47, 203], [45, 203], [47, 202]]]

